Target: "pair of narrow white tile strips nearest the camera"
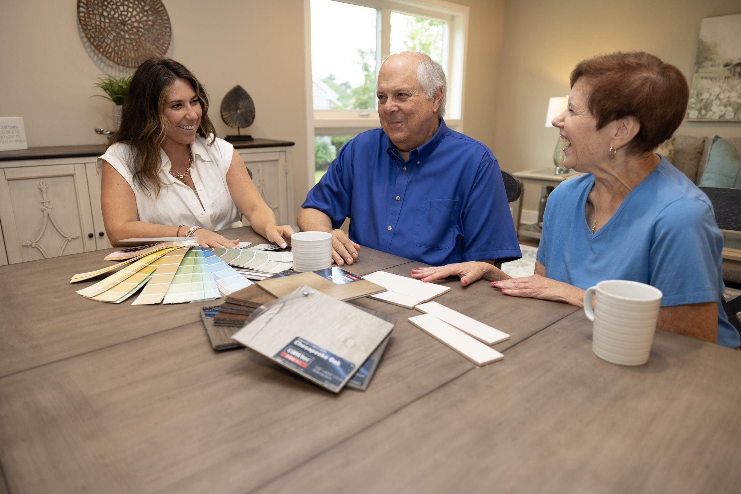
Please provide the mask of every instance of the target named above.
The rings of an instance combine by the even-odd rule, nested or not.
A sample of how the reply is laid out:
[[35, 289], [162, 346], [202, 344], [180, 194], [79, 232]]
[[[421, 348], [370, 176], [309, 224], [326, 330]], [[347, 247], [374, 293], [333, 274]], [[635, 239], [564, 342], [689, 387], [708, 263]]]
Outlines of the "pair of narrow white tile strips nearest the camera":
[[476, 365], [491, 364], [504, 356], [489, 345], [510, 338], [507, 333], [476, 321], [437, 302], [415, 307], [422, 316], [413, 316], [409, 322], [437, 338]]

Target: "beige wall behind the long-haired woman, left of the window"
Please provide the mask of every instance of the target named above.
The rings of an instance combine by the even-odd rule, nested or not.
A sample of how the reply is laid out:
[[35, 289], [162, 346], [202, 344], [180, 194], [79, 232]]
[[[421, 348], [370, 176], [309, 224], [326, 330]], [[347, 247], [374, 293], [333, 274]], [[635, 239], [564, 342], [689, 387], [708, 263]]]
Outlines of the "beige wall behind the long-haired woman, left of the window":
[[[255, 137], [295, 141], [293, 178], [305, 184], [306, 110], [302, 0], [165, 1], [173, 27], [168, 53], [205, 84], [209, 116], [221, 137], [234, 133], [219, 116], [235, 84], [256, 106]], [[110, 128], [112, 103], [92, 85], [120, 69], [86, 49], [76, 2], [3, 2], [0, 15], [0, 116], [22, 116], [29, 146], [103, 144], [93, 127]], [[90, 53], [90, 54], [89, 54]], [[296, 190], [300, 204], [306, 190]]]

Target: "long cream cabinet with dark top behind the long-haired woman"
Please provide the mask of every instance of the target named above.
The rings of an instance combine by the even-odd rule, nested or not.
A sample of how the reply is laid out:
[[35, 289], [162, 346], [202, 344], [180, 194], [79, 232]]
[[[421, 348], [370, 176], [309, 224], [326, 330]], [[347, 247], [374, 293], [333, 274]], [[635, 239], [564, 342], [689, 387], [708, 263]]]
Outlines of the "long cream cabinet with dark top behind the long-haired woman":
[[[280, 224], [296, 224], [290, 146], [268, 139], [235, 144]], [[103, 147], [35, 150], [0, 152], [0, 265], [110, 247], [95, 163]]]

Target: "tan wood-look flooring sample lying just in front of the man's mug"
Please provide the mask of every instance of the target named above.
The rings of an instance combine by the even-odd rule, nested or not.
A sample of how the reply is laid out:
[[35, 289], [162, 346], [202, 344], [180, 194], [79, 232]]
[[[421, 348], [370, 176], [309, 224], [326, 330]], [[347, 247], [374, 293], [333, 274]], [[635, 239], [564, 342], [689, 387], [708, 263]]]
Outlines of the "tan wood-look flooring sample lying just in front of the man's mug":
[[372, 281], [353, 275], [341, 267], [330, 267], [309, 273], [279, 273], [266, 280], [256, 282], [263, 290], [276, 297], [284, 297], [302, 284], [319, 290], [337, 300], [352, 300], [386, 289]]

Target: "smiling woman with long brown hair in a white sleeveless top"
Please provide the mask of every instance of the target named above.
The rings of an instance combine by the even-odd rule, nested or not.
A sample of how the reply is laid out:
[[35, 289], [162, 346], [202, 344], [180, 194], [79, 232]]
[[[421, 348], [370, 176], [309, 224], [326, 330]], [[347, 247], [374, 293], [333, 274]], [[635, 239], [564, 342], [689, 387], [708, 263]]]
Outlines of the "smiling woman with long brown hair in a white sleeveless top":
[[123, 238], [195, 236], [203, 247], [235, 247], [215, 233], [253, 229], [285, 247], [277, 224], [233, 146], [216, 138], [208, 96], [183, 64], [144, 61], [134, 73], [119, 130], [98, 158], [101, 204], [111, 244]]

